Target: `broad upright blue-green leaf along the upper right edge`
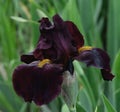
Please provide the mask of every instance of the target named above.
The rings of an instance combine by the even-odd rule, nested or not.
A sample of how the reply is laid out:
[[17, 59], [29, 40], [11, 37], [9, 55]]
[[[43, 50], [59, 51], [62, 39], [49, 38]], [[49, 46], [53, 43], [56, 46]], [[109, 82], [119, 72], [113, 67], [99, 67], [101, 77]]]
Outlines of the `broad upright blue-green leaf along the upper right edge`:
[[113, 62], [120, 48], [120, 0], [110, 0], [108, 3], [107, 50]]

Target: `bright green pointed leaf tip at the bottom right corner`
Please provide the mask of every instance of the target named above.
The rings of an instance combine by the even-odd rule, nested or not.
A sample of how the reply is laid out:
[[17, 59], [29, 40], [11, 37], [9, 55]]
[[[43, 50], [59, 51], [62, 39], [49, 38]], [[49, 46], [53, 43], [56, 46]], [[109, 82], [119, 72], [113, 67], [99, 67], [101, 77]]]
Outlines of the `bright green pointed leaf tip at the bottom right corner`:
[[109, 102], [109, 100], [106, 98], [106, 96], [102, 95], [102, 99], [106, 108], [105, 112], [117, 112], [112, 104]]

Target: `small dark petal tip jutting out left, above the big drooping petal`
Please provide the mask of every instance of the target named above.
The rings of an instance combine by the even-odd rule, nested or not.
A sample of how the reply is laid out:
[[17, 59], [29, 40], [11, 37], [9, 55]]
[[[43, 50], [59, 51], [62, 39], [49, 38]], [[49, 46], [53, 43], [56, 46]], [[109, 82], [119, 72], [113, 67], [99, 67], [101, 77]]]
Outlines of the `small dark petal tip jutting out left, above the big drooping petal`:
[[21, 55], [21, 61], [25, 62], [27, 64], [36, 61], [37, 59], [34, 57], [33, 52], [29, 53], [29, 54], [23, 54]]

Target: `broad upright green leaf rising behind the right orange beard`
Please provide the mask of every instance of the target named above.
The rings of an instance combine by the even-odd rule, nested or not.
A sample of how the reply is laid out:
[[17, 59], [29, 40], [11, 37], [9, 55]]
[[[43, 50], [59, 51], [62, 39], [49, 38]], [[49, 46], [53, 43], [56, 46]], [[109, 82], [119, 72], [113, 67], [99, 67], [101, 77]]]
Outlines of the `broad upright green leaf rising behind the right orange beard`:
[[95, 17], [98, 15], [97, 13], [99, 13], [100, 11], [99, 9], [97, 9], [98, 7], [95, 9], [94, 0], [78, 0], [78, 6], [79, 13], [81, 15], [83, 30], [85, 32], [84, 36], [86, 37], [85, 38], [86, 44], [102, 47], [98, 27], [95, 24], [96, 23]]

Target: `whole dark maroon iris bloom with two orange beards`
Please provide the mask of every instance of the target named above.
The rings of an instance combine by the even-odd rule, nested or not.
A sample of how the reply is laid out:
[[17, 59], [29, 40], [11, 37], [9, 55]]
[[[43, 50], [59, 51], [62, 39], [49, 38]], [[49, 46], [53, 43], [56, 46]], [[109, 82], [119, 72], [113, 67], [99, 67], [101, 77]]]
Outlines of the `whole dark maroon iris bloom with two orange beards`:
[[16, 93], [25, 101], [37, 105], [47, 104], [61, 91], [63, 72], [73, 74], [72, 61], [77, 59], [101, 69], [104, 80], [112, 80], [110, 59], [99, 48], [83, 46], [83, 36], [71, 21], [63, 21], [59, 15], [40, 21], [40, 39], [35, 50], [21, 56], [26, 64], [18, 66], [13, 73]]

